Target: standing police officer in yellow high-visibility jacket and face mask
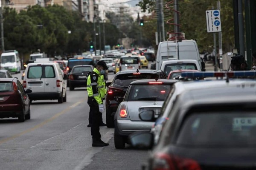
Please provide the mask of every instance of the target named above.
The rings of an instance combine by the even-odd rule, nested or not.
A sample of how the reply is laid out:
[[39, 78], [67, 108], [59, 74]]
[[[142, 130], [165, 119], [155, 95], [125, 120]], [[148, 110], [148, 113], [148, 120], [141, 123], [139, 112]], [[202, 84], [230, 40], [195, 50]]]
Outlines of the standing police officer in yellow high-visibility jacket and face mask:
[[101, 140], [99, 132], [102, 113], [104, 112], [103, 99], [106, 91], [105, 82], [101, 75], [105, 73], [105, 70], [108, 70], [106, 62], [99, 61], [87, 79], [87, 103], [91, 110], [91, 134], [93, 137], [93, 147], [108, 146], [108, 143]]

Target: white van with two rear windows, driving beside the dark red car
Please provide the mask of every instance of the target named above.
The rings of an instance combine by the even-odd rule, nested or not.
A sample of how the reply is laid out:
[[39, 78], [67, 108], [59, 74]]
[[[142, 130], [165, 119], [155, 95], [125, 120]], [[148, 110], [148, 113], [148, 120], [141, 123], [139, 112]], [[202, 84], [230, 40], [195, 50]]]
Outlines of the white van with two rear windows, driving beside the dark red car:
[[57, 62], [29, 63], [24, 72], [23, 88], [31, 89], [32, 100], [58, 100], [66, 102], [67, 74], [63, 74]]

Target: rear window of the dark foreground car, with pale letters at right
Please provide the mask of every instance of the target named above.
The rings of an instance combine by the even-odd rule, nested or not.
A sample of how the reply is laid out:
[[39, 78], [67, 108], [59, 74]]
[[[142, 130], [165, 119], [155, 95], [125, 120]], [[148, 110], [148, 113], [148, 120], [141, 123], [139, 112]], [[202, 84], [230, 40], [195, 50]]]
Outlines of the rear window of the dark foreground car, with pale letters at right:
[[177, 144], [195, 147], [256, 145], [256, 113], [194, 113], [183, 123]]

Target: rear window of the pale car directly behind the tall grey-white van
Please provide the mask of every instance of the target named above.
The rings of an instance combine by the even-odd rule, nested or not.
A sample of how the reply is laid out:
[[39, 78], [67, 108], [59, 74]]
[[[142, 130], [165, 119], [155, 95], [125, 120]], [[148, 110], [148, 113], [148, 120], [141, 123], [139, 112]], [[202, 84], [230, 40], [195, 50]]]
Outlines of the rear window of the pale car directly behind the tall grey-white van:
[[195, 63], [172, 63], [166, 64], [164, 73], [168, 76], [173, 70], [197, 70]]

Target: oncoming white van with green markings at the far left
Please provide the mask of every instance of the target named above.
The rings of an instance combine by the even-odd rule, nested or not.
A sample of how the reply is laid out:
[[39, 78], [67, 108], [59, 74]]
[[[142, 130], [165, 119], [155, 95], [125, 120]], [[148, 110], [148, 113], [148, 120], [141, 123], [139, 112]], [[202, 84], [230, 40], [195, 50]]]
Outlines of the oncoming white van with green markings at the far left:
[[9, 50], [2, 53], [1, 67], [3, 67], [11, 73], [19, 73], [21, 70], [21, 63], [18, 51]]

